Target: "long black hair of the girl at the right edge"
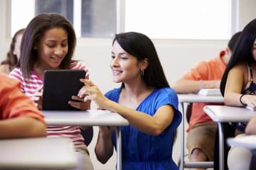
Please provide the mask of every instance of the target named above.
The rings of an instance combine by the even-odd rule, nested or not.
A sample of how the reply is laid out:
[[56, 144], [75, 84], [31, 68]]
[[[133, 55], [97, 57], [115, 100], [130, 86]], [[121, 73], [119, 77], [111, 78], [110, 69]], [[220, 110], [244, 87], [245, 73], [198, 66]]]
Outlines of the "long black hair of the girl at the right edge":
[[232, 69], [236, 64], [240, 62], [252, 63], [255, 62], [252, 56], [252, 47], [256, 38], [256, 19], [247, 23], [245, 28], [242, 30], [240, 38], [235, 45], [233, 50], [233, 55], [228, 62], [227, 68], [223, 74], [223, 77], [220, 81], [220, 91], [224, 96], [225, 93], [225, 84], [228, 78], [228, 72]]

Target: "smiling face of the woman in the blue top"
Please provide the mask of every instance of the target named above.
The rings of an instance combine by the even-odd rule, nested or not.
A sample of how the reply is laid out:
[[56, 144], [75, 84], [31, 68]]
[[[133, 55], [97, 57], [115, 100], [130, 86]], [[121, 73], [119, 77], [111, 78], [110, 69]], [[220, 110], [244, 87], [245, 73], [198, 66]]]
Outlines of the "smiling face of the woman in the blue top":
[[136, 79], [142, 79], [141, 67], [142, 62], [138, 62], [136, 57], [125, 52], [117, 41], [114, 42], [110, 64], [114, 82], [129, 83]]

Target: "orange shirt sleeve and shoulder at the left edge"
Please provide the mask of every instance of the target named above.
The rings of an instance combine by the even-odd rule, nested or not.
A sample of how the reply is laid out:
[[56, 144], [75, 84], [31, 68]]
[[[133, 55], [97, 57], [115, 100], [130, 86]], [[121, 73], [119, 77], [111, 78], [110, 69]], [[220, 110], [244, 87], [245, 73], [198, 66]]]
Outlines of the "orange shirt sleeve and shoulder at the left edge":
[[0, 73], [0, 120], [28, 116], [43, 120], [35, 103], [21, 92], [21, 84], [16, 79]]

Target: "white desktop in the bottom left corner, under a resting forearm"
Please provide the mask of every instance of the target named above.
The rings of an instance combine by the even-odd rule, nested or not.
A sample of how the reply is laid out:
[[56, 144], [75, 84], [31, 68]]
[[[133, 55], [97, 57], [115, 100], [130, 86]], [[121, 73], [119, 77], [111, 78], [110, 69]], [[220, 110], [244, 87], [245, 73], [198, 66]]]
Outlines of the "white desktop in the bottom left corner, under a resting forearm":
[[67, 138], [0, 140], [0, 169], [73, 169], [77, 163]]

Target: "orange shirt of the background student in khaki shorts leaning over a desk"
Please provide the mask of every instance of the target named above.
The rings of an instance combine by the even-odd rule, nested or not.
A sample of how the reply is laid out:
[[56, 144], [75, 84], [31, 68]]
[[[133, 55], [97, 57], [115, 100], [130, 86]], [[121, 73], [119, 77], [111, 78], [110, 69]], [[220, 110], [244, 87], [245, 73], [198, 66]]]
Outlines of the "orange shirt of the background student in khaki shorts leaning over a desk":
[[[221, 52], [220, 52], [221, 53]], [[183, 76], [183, 79], [192, 80], [220, 80], [225, 71], [226, 65], [221, 60], [220, 55], [208, 62], [200, 62], [190, 72]], [[188, 123], [187, 132], [191, 127], [198, 123], [213, 122], [210, 117], [203, 112], [203, 106], [220, 105], [220, 103], [193, 103], [191, 118]]]

